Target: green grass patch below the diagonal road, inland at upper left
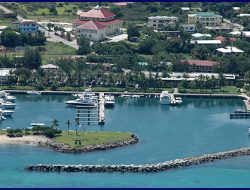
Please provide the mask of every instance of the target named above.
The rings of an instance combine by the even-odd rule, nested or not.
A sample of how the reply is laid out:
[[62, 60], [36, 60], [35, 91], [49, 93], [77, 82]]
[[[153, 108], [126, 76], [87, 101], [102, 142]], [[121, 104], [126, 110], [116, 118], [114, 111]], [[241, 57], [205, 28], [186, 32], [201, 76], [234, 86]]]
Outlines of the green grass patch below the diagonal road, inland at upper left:
[[46, 51], [42, 53], [42, 64], [48, 64], [51, 59], [56, 59], [69, 55], [76, 55], [76, 50], [65, 44], [58, 42], [46, 42]]

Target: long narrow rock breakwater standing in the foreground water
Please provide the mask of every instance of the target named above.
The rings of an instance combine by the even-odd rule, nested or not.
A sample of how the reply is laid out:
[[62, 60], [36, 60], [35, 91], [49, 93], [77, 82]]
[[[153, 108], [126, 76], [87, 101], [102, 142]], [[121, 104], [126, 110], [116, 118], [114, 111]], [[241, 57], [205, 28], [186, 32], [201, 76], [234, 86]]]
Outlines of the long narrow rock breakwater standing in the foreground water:
[[40, 172], [159, 172], [174, 168], [181, 168], [192, 165], [213, 162], [233, 158], [237, 156], [250, 155], [250, 148], [242, 148], [232, 151], [219, 152], [214, 154], [205, 154], [197, 157], [176, 159], [159, 164], [146, 165], [31, 165], [25, 167], [28, 171]]

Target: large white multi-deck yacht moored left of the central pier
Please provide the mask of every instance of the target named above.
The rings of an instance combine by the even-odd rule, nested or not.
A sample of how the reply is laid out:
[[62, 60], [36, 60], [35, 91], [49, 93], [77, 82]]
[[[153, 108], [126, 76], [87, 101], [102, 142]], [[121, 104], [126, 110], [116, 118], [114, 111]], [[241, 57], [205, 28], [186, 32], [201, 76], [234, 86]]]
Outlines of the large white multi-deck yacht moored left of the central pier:
[[69, 100], [65, 103], [73, 106], [97, 106], [98, 97], [91, 91], [91, 89], [86, 89], [79, 98], [75, 100]]

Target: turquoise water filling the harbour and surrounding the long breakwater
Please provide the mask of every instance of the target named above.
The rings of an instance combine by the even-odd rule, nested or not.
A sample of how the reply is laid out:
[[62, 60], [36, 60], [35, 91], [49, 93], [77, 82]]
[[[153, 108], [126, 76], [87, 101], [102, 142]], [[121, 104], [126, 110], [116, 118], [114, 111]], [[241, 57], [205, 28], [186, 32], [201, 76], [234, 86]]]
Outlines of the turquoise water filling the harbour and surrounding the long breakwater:
[[[0, 128], [50, 124], [56, 118], [66, 129], [76, 111], [65, 106], [70, 96], [17, 95], [13, 118]], [[140, 142], [103, 152], [64, 154], [31, 145], [0, 145], [0, 187], [250, 187], [250, 157], [150, 174], [37, 173], [29, 164], [145, 164], [231, 150], [250, 145], [248, 120], [230, 120], [229, 113], [244, 108], [235, 99], [184, 99], [178, 107], [161, 106], [158, 99], [116, 99], [106, 109], [106, 123], [93, 131], [130, 131]], [[72, 126], [72, 129], [74, 126]]]

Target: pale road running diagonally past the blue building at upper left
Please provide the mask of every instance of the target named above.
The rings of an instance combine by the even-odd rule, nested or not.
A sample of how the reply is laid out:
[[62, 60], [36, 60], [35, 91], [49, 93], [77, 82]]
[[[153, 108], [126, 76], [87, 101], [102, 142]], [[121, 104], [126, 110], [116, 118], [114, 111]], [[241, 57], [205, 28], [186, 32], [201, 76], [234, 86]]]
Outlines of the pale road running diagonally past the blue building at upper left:
[[[2, 6], [2, 5], [0, 5], [0, 9], [3, 10], [5, 13], [13, 13], [13, 11], [11, 11], [10, 9], [8, 9], [8, 8]], [[22, 20], [24, 20], [24, 18], [17, 15], [17, 20], [22, 21]], [[46, 37], [52, 38], [54, 42], [61, 42], [61, 43], [65, 44], [65, 45], [67, 45], [67, 46], [70, 46], [70, 47], [74, 48], [74, 49], [79, 48], [79, 46], [76, 44], [75, 41], [70, 42], [68, 40], [65, 40], [64, 38], [61, 38], [61, 37], [55, 35], [53, 32], [49, 32], [47, 29], [43, 28], [40, 25], [39, 25], [39, 30], [44, 32]]]

